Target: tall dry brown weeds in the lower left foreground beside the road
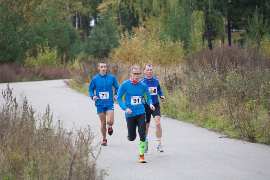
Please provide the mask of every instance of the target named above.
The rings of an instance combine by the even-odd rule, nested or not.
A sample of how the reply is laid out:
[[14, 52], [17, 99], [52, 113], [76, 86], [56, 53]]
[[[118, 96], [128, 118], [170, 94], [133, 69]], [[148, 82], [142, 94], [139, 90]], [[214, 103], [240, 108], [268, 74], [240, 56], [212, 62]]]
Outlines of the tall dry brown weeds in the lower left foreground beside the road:
[[26, 98], [18, 102], [9, 85], [0, 109], [0, 179], [104, 179], [97, 168], [91, 129], [66, 132], [60, 119], [35, 115]]

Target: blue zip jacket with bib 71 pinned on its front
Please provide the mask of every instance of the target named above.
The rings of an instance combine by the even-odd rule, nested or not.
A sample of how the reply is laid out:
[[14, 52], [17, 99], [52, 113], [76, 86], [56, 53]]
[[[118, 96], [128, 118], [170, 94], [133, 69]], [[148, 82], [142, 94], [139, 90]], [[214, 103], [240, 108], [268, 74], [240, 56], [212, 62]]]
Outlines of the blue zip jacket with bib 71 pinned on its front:
[[[115, 88], [114, 93], [117, 93], [119, 85], [115, 76], [111, 74], [106, 73], [105, 76], [101, 76], [99, 73], [92, 79], [88, 91], [91, 99], [93, 99], [94, 96], [99, 98], [95, 101], [95, 106], [113, 105], [113, 87]], [[95, 90], [96, 94], [94, 93]]]

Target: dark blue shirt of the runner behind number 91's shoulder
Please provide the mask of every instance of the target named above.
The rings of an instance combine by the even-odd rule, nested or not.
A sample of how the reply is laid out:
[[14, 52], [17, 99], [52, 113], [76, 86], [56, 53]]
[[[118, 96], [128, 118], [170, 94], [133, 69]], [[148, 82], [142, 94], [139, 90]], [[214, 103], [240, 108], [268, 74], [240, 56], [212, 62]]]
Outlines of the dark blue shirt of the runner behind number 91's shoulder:
[[[159, 103], [158, 96], [159, 97], [163, 96], [163, 93], [161, 91], [158, 78], [152, 77], [151, 79], [147, 79], [146, 77], [144, 77], [143, 79], [141, 79], [141, 81], [146, 83], [147, 87], [152, 88], [154, 90], [154, 92], [151, 95], [153, 104]], [[146, 104], [145, 101], [143, 101], [143, 103]]]

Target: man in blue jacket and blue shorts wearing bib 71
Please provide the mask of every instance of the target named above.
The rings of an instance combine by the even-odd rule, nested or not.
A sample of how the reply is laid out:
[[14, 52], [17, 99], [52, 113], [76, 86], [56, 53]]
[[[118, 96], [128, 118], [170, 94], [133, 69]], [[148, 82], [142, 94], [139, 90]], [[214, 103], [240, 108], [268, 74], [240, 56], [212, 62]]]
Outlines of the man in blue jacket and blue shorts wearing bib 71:
[[[119, 89], [118, 82], [115, 76], [107, 73], [107, 64], [104, 61], [98, 63], [98, 70], [100, 73], [95, 76], [88, 88], [89, 95], [93, 101], [95, 101], [95, 106], [97, 107], [98, 116], [101, 121], [101, 134], [103, 136], [103, 141], [101, 146], [107, 145], [106, 138], [106, 115], [107, 115], [107, 127], [108, 134], [111, 136], [113, 134], [113, 121], [114, 121], [114, 108], [113, 103], [116, 101], [117, 91]], [[115, 88], [113, 94], [113, 87]], [[94, 91], [96, 90], [96, 94]]]

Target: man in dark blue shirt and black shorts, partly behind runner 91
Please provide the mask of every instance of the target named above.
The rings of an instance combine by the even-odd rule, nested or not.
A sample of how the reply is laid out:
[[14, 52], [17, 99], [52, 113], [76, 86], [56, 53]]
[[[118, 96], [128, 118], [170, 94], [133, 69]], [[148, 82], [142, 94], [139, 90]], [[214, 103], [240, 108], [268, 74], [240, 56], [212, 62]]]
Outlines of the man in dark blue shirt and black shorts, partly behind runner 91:
[[145, 77], [141, 80], [142, 82], [146, 83], [146, 85], [149, 88], [150, 95], [152, 97], [152, 102], [155, 106], [155, 110], [153, 111], [150, 109], [150, 107], [146, 104], [145, 101], [143, 101], [143, 105], [145, 107], [145, 112], [146, 112], [146, 147], [144, 152], [148, 152], [148, 138], [147, 134], [149, 131], [149, 126], [150, 126], [150, 119], [151, 115], [153, 116], [155, 120], [155, 126], [156, 126], [156, 137], [157, 137], [157, 152], [164, 152], [161, 146], [161, 136], [162, 136], [162, 128], [160, 124], [160, 105], [158, 101], [158, 96], [161, 98], [162, 101], [165, 101], [165, 97], [161, 91], [161, 87], [159, 85], [159, 80], [158, 78], [153, 77], [153, 71], [154, 71], [154, 66], [153, 64], [145, 64], [144, 65], [144, 73]]

